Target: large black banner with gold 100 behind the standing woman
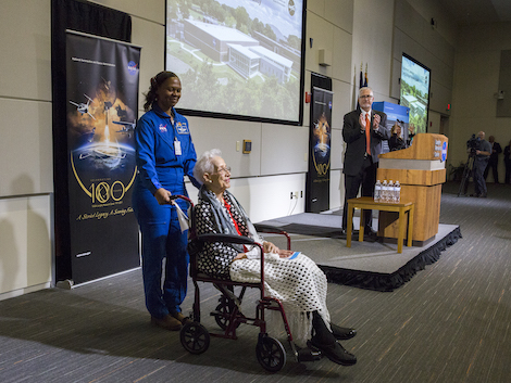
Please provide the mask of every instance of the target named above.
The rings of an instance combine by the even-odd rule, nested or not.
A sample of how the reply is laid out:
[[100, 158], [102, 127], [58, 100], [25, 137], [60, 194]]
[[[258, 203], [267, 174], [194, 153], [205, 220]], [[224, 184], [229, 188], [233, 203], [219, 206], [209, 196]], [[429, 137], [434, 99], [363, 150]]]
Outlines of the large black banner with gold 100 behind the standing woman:
[[66, 98], [72, 278], [139, 266], [132, 208], [140, 48], [67, 31]]

